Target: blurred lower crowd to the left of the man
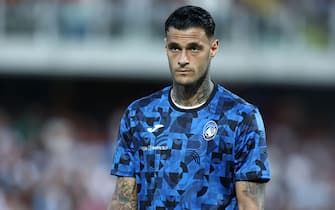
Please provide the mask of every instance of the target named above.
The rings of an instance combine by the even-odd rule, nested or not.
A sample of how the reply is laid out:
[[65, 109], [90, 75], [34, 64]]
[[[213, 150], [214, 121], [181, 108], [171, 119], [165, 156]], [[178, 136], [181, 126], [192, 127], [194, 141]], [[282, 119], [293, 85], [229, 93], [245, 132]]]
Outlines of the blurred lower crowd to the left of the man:
[[0, 209], [105, 210], [115, 187], [110, 139], [119, 115], [103, 130], [69, 113], [34, 109], [15, 118], [1, 110]]

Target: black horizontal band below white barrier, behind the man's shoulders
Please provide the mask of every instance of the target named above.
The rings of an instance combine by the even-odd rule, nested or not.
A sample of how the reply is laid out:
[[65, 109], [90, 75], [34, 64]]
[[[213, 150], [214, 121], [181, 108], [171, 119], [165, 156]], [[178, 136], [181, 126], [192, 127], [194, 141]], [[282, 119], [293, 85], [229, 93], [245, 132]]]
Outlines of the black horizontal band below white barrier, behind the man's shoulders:
[[[216, 82], [257, 105], [266, 118], [273, 107], [291, 99], [303, 104], [310, 120], [334, 119], [335, 87]], [[0, 96], [2, 107], [16, 116], [28, 107], [59, 114], [71, 110], [104, 124], [114, 107], [125, 107], [167, 85], [165, 80], [0, 76]]]

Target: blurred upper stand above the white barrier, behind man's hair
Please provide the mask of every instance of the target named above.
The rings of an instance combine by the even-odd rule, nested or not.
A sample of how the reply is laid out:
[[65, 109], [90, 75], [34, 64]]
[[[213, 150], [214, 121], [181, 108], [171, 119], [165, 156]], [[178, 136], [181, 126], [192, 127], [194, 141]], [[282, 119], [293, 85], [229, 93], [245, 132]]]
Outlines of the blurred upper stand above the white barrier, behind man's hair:
[[334, 49], [334, 0], [2, 0], [0, 38], [161, 39], [166, 16], [197, 4], [216, 18], [227, 43]]

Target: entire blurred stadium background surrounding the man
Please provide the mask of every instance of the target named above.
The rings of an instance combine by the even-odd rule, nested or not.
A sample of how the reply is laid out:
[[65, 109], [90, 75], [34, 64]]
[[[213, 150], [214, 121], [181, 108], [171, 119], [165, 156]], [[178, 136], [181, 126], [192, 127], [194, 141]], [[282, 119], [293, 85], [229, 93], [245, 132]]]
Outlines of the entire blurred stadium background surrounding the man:
[[267, 210], [335, 209], [334, 0], [0, 0], [0, 209], [102, 210], [118, 120], [170, 82], [164, 20], [217, 21], [217, 83], [260, 107]]

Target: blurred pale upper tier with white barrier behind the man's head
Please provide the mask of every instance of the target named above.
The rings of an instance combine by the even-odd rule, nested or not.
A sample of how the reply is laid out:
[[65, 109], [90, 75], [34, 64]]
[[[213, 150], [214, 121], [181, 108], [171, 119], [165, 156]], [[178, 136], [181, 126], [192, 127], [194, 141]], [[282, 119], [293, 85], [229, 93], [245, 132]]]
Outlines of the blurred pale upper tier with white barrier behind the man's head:
[[[0, 73], [51, 74], [57, 69], [59, 74], [127, 76], [142, 68], [148, 72], [143, 75], [165, 76], [156, 72], [166, 62], [163, 52], [158, 55], [164, 20], [185, 2], [199, 3], [0, 0]], [[214, 72], [238, 80], [250, 78], [250, 69], [258, 79], [267, 80], [295, 81], [301, 75], [308, 81], [320, 75], [321, 81], [335, 78], [335, 3], [323, 5], [324, 14], [317, 16], [319, 11], [313, 8], [319, 7], [310, 8], [303, 0], [299, 8], [235, 2], [203, 1], [216, 19], [221, 41]], [[130, 57], [132, 62], [124, 65]]]

